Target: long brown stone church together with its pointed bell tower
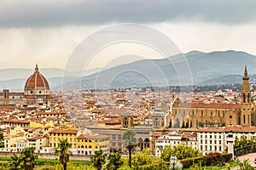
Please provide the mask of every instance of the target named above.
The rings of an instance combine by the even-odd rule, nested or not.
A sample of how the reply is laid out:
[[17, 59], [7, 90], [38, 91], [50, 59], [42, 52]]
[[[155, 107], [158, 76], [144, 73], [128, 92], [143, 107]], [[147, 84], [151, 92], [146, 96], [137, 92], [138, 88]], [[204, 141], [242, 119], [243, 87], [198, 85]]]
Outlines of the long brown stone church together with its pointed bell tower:
[[252, 102], [247, 67], [242, 81], [241, 102], [238, 104], [182, 103], [176, 99], [167, 116], [167, 127], [255, 126], [255, 105]]

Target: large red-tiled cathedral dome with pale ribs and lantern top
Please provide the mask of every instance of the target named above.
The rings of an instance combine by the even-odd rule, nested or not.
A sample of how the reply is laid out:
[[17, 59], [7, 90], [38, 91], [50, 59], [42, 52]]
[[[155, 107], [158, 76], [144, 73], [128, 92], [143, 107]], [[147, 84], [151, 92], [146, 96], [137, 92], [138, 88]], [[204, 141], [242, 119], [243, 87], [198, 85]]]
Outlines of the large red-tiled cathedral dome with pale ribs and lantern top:
[[38, 65], [36, 65], [34, 73], [27, 79], [25, 84], [25, 90], [35, 88], [49, 89], [49, 83], [47, 82], [46, 78], [38, 71]]

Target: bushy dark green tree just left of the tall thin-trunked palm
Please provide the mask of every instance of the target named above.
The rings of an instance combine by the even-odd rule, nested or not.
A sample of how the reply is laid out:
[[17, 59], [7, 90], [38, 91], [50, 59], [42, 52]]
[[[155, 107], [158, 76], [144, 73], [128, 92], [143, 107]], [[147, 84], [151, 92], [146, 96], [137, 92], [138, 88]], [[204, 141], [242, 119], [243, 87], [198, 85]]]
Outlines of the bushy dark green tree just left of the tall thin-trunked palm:
[[121, 167], [124, 164], [124, 161], [121, 159], [122, 156], [119, 153], [119, 151], [113, 151], [108, 156], [108, 161], [104, 165], [104, 168], [106, 170], [117, 170], [119, 167]]

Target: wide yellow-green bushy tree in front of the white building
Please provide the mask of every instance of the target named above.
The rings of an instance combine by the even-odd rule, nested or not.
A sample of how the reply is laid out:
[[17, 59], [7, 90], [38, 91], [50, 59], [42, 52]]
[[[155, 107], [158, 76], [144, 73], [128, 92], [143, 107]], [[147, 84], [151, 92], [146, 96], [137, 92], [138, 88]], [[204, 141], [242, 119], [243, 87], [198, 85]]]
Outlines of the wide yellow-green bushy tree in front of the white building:
[[169, 145], [166, 149], [164, 149], [161, 153], [161, 158], [164, 161], [170, 161], [170, 157], [172, 155], [177, 156], [178, 160], [186, 159], [189, 157], [197, 157], [202, 156], [201, 152], [199, 150], [195, 150], [192, 148], [192, 146], [187, 146], [184, 144], [178, 144], [174, 147]]

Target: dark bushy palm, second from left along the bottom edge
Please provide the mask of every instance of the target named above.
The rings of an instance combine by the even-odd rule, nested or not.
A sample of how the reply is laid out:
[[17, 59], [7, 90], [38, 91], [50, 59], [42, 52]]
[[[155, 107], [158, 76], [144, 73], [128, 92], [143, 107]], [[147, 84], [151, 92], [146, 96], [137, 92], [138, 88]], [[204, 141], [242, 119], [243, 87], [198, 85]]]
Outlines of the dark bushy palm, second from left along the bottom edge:
[[25, 148], [20, 153], [20, 166], [26, 170], [34, 169], [37, 156], [34, 156], [34, 147]]

